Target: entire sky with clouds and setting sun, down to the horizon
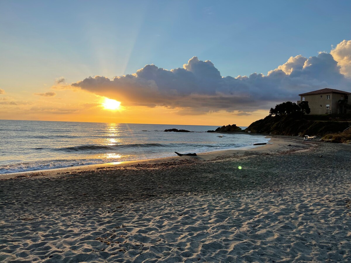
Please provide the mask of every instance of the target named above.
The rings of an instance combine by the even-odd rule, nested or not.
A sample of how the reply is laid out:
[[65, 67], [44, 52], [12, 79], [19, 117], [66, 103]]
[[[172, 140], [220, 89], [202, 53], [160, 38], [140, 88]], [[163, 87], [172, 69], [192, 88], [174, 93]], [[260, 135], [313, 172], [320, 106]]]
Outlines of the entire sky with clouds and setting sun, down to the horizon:
[[0, 0], [0, 119], [248, 126], [299, 93], [351, 92], [350, 11]]

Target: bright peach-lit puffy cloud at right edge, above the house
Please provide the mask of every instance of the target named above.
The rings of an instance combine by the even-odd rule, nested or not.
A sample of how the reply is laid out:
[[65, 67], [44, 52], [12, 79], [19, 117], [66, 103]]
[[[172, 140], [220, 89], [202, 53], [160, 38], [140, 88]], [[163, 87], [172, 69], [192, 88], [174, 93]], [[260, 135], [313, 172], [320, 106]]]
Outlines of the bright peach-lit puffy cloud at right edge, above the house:
[[338, 62], [340, 73], [351, 77], [351, 40], [340, 42], [330, 54]]

